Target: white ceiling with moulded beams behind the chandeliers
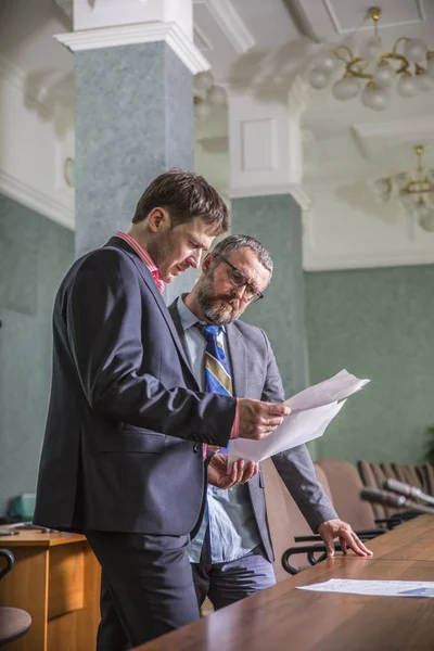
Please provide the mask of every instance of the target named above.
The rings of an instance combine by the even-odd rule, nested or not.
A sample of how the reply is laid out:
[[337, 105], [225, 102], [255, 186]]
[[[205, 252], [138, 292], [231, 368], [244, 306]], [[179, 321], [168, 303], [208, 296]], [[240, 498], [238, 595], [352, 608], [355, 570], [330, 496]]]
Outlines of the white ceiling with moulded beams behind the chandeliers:
[[[365, 38], [371, 29], [369, 7], [363, 0], [195, 0], [194, 37], [217, 82], [252, 88], [260, 95], [288, 88], [328, 43]], [[387, 47], [406, 35], [420, 36], [434, 49], [434, 0], [383, 0], [381, 7], [380, 33]], [[52, 35], [71, 28], [54, 0], [0, 2], [0, 54], [26, 75], [34, 90], [40, 87], [65, 105], [73, 102], [74, 60]], [[337, 102], [328, 90], [311, 91], [311, 97], [303, 119], [308, 180], [396, 170], [412, 164], [418, 142], [433, 143], [426, 159], [434, 166], [434, 91], [396, 97], [380, 114], [357, 99]], [[201, 168], [214, 166], [222, 177], [226, 111], [197, 123], [196, 136]]]

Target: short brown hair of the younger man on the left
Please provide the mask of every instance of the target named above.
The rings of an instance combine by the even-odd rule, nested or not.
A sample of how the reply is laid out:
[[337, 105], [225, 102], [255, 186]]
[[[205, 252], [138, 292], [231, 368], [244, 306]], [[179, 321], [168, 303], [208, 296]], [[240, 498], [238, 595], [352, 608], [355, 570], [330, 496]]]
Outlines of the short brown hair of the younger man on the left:
[[216, 235], [229, 228], [226, 203], [215, 188], [193, 171], [173, 168], [157, 176], [139, 199], [132, 224], [143, 221], [157, 207], [169, 213], [173, 227], [201, 217], [215, 225]]

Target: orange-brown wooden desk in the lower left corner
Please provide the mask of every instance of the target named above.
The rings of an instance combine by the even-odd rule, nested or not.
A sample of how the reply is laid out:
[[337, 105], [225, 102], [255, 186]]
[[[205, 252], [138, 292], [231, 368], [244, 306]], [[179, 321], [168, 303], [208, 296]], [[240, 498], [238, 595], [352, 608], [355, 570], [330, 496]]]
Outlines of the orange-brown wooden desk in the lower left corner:
[[[22, 531], [0, 536], [15, 566], [0, 582], [0, 605], [22, 608], [31, 627], [11, 651], [93, 651], [100, 621], [100, 564], [76, 534]], [[1, 561], [0, 561], [1, 562]]]

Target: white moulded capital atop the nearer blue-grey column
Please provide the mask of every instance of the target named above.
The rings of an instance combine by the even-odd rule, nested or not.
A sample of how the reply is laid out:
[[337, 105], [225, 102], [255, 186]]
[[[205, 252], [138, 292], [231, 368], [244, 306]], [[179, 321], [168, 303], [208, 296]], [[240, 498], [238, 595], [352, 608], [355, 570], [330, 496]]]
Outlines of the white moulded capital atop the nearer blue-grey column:
[[54, 38], [72, 52], [164, 41], [196, 75], [210, 66], [192, 35], [192, 0], [75, 0], [74, 31]]

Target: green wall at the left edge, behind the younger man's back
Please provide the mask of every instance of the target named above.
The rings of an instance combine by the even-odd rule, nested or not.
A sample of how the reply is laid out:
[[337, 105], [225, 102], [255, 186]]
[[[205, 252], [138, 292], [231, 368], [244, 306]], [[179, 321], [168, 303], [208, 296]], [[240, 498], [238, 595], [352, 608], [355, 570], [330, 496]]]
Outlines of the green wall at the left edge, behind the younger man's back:
[[74, 233], [0, 196], [0, 513], [34, 493], [51, 383], [51, 311]]

